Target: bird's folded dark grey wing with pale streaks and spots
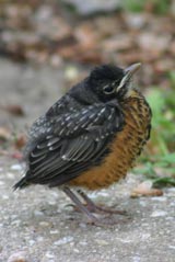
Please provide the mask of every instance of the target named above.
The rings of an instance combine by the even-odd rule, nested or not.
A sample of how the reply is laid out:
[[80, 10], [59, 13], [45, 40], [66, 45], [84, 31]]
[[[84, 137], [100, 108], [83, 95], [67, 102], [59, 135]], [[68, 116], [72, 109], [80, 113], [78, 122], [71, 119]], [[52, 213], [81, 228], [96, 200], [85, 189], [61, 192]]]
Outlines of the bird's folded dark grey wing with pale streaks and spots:
[[98, 163], [124, 124], [114, 104], [94, 104], [50, 118], [51, 133], [28, 155], [27, 181], [60, 185]]

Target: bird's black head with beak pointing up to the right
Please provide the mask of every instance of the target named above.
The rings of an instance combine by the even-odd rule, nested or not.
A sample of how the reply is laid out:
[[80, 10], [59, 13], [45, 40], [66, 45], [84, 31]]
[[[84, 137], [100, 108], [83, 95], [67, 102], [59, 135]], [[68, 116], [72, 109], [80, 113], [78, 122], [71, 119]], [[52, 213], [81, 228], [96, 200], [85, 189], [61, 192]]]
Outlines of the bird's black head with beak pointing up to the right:
[[88, 78], [89, 87], [103, 102], [124, 100], [133, 89], [132, 76], [140, 66], [141, 64], [133, 64], [126, 69], [112, 65], [96, 67]]

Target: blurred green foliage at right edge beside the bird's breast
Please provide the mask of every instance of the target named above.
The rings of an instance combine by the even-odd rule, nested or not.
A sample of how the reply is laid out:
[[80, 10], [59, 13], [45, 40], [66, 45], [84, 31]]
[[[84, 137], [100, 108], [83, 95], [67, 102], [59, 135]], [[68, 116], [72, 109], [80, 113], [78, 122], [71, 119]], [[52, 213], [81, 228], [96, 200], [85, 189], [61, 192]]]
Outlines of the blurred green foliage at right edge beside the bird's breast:
[[147, 96], [153, 113], [151, 140], [135, 169], [155, 186], [175, 185], [175, 71], [167, 78], [171, 87], [152, 87]]

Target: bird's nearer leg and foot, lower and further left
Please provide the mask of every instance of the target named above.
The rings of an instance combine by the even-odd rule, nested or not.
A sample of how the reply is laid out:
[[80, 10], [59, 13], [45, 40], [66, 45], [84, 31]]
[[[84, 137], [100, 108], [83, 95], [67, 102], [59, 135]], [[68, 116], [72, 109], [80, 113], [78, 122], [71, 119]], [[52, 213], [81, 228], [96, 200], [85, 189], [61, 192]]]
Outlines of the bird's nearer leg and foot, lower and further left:
[[114, 225], [115, 221], [110, 219], [100, 219], [96, 216], [94, 216], [82, 203], [81, 201], [77, 197], [77, 195], [68, 187], [63, 186], [63, 192], [71, 198], [71, 201], [78, 206], [78, 208], [86, 215], [91, 224], [95, 224], [97, 226], [103, 226], [103, 225]]

